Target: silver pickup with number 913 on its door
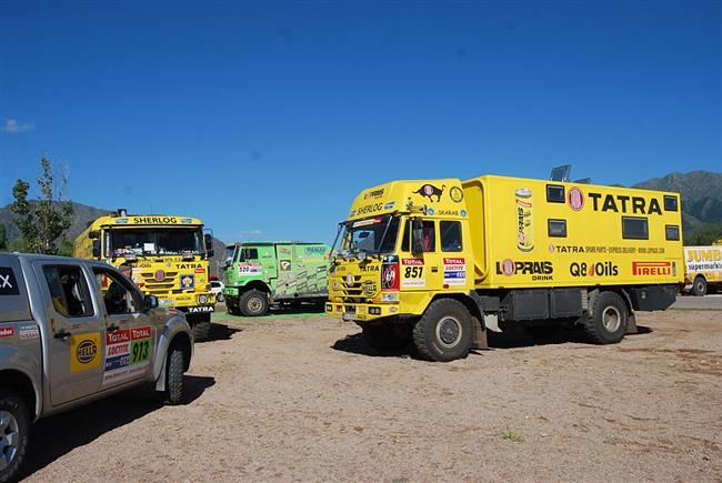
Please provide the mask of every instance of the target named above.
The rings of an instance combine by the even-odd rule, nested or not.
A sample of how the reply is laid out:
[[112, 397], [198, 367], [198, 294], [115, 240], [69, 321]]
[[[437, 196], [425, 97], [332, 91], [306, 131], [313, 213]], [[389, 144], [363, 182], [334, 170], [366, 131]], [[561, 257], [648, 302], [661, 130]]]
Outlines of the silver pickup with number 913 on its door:
[[0, 481], [40, 417], [147, 382], [182, 400], [188, 322], [106, 263], [0, 253]]

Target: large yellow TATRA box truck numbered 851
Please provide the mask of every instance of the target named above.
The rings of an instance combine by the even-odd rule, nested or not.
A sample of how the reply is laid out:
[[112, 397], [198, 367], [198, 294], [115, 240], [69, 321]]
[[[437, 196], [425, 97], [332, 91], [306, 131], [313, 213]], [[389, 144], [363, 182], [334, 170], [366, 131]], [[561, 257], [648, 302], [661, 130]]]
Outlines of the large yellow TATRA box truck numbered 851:
[[[340, 223], [329, 315], [433, 361], [579, 325], [596, 343], [669, 308], [684, 279], [678, 193], [487, 175], [362, 191]], [[337, 245], [334, 242], [334, 248]]]

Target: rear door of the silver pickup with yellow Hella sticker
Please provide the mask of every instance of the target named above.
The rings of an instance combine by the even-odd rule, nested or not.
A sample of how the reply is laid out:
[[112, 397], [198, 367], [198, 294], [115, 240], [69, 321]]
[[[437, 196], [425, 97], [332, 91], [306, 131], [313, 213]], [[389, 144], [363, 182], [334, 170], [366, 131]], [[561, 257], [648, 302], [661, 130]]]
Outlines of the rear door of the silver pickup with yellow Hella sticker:
[[81, 265], [38, 262], [33, 269], [50, 324], [46, 355], [50, 402], [59, 405], [100, 389], [106, 331]]

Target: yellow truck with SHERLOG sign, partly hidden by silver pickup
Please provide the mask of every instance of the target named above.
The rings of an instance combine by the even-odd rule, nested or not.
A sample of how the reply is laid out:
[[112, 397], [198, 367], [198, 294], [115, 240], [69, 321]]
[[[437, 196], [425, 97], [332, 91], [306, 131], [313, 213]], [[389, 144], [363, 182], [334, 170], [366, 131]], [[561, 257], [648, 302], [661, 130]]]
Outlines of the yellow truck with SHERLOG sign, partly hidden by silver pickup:
[[160, 306], [185, 313], [197, 341], [208, 339], [215, 298], [210, 290], [212, 238], [197, 218], [128, 214], [91, 222], [74, 241], [74, 256], [130, 265], [133, 282]]

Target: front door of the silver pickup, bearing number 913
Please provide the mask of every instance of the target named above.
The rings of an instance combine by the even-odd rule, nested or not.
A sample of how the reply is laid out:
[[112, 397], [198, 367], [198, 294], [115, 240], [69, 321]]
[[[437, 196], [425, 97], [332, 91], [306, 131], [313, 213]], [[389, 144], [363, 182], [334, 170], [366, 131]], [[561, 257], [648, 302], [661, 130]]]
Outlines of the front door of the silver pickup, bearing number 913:
[[159, 328], [143, 312], [143, 298], [133, 283], [114, 270], [92, 268], [93, 289], [103, 303], [106, 350], [101, 385], [110, 388], [144, 378], [151, 362]]

